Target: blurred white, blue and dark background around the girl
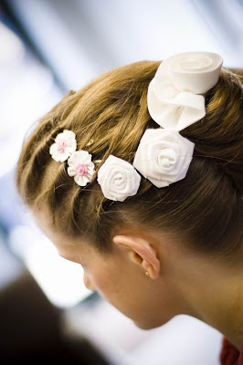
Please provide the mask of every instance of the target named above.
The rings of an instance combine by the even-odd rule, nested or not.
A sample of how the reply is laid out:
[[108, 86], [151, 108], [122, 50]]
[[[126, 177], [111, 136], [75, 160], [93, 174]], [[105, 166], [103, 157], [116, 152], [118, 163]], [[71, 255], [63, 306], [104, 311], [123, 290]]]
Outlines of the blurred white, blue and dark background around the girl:
[[[144, 59], [205, 50], [243, 68], [242, 0], [0, 2], [0, 360], [217, 365], [222, 335], [185, 315], [136, 328], [84, 287], [18, 199], [27, 130], [69, 90]], [[3, 362], [2, 362], [3, 363]]]

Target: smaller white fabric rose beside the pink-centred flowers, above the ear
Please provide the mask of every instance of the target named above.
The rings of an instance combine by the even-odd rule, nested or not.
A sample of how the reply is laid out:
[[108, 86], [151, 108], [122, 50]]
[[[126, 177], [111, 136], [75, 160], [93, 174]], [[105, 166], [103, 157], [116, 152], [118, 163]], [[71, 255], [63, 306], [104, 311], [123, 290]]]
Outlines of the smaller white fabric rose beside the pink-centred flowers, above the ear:
[[137, 193], [141, 176], [131, 163], [110, 155], [100, 166], [97, 180], [107, 199], [123, 202]]

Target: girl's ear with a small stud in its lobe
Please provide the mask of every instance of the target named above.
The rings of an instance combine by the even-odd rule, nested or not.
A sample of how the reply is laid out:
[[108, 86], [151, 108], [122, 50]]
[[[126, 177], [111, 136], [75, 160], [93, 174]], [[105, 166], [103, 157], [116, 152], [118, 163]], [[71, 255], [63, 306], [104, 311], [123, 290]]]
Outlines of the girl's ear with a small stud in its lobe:
[[156, 279], [159, 276], [160, 261], [156, 251], [146, 239], [137, 235], [115, 235], [113, 242], [116, 245], [130, 247], [134, 251], [132, 253], [132, 260], [143, 266], [149, 272], [151, 278]]

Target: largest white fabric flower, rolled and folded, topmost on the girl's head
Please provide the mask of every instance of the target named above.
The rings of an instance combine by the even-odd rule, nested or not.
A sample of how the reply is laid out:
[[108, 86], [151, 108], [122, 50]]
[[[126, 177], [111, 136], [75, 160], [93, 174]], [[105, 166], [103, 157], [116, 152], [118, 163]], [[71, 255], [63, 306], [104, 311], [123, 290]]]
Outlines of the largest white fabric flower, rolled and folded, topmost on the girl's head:
[[177, 131], [202, 119], [206, 91], [217, 84], [222, 64], [223, 58], [212, 52], [185, 52], [164, 59], [148, 87], [152, 119]]

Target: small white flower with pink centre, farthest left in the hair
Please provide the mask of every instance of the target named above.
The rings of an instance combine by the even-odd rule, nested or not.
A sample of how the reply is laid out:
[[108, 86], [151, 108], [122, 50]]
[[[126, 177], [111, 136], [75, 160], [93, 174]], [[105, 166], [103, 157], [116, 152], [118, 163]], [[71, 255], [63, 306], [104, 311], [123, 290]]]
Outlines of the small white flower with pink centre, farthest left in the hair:
[[75, 137], [75, 133], [71, 130], [63, 130], [63, 132], [58, 133], [55, 143], [49, 148], [49, 153], [55, 161], [66, 161], [76, 150], [77, 142]]

